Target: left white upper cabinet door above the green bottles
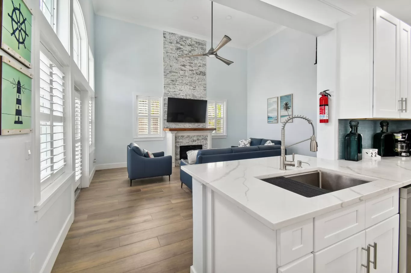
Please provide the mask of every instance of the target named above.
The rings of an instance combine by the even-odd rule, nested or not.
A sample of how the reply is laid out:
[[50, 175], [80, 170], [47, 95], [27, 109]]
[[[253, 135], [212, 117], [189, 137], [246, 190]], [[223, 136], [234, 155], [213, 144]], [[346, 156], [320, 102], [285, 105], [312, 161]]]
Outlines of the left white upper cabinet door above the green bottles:
[[399, 117], [399, 20], [376, 8], [374, 24], [374, 117]]

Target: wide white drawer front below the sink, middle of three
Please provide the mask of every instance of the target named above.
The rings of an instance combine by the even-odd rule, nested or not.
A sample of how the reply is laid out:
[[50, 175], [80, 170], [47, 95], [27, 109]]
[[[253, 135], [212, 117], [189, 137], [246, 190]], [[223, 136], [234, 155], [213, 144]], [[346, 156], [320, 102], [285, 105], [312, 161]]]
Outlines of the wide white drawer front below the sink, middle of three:
[[365, 201], [314, 218], [314, 251], [365, 229]]

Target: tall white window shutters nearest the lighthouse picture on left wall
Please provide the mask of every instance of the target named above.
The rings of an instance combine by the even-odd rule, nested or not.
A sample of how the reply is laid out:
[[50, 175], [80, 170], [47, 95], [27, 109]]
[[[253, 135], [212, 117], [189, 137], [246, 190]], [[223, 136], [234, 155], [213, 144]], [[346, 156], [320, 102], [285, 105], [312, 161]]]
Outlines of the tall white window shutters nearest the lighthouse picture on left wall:
[[44, 189], [64, 172], [64, 74], [40, 52], [40, 182]]

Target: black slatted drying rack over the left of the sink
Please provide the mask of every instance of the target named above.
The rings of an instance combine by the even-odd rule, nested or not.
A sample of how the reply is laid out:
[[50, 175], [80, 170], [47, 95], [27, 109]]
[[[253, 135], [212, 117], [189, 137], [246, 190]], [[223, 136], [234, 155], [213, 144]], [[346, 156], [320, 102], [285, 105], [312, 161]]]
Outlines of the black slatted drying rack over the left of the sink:
[[288, 191], [298, 193], [299, 195], [302, 195], [302, 196], [305, 196], [305, 197], [314, 197], [314, 196], [319, 196], [319, 195], [331, 192], [331, 191], [327, 191], [325, 189], [314, 187], [314, 186], [309, 185], [309, 184], [305, 184], [305, 183], [302, 183], [302, 182], [292, 180], [290, 178], [286, 178], [284, 176], [264, 178], [264, 179], [261, 179], [261, 180], [263, 180], [267, 183], [273, 184], [277, 187], [286, 189]]

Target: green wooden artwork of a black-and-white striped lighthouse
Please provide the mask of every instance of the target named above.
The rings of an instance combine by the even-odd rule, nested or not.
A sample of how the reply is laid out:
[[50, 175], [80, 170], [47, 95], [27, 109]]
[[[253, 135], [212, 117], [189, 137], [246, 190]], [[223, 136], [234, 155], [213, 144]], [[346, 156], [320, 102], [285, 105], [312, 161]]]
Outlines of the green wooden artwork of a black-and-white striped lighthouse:
[[31, 129], [32, 74], [0, 56], [0, 134], [28, 134]]

